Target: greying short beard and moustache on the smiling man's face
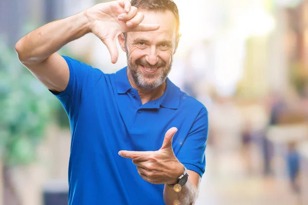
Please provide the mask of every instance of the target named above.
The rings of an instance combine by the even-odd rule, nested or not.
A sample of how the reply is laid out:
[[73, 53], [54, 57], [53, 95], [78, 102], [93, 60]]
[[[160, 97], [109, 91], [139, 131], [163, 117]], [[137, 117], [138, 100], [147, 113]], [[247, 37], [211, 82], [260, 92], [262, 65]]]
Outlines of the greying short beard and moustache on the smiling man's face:
[[[127, 57], [127, 65], [129, 73], [134, 80], [134, 83], [145, 90], [152, 90], [158, 88], [162, 85], [166, 79], [168, 74], [171, 71], [172, 67], [172, 56], [170, 60], [169, 66], [167, 66], [166, 62], [162, 59], [155, 65], [150, 65], [145, 57], [141, 57], [136, 60], [135, 63], [132, 63], [131, 58], [129, 57], [128, 49], [126, 47], [126, 57]], [[138, 68], [138, 66], [143, 66], [146, 68], [159, 68], [155, 73], [145, 73]]]

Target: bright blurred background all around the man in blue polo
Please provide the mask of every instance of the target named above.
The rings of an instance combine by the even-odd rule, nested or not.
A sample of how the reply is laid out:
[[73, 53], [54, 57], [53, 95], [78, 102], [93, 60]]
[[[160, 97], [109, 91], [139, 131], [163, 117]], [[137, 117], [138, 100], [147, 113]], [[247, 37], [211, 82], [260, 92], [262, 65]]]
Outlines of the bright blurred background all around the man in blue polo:
[[[28, 32], [104, 1], [0, 0], [0, 205], [67, 204], [65, 111], [18, 61]], [[308, 0], [175, 0], [169, 78], [209, 112], [197, 205], [308, 204]], [[106, 73], [92, 34], [60, 51]]]

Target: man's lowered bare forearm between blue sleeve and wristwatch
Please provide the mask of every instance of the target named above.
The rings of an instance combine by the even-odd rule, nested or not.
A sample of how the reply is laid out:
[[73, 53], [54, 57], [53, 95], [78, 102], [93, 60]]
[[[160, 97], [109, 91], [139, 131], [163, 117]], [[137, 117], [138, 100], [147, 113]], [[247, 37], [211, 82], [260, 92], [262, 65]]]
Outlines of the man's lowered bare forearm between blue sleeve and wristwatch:
[[190, 205], [196, 202], [201, 177], [194, 171], [187, 170], [187, 172], [189, 174], [189, 180], [186, 182], [185, 186], [182, 187], [180, 192], [175, 192], [174, 188], [169, 185], [165, 185], [164, 201], [166, 205], [174, 205], [175, 200], [179, 201], [179, 205]]

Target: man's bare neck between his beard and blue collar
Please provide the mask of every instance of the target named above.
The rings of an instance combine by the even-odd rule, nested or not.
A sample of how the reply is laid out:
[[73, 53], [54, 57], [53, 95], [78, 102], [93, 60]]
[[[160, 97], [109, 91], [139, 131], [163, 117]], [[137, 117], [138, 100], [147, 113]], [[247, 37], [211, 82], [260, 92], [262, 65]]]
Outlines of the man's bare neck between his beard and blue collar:
[[140, 86], [137, 86], [136, 83], [134, 82], [133, 78], [131, 77], [131, 74], [129, 73], [129, 70], [127, 69], [127, 77], [129, 84], [131, 87], [134, 89], [138, 90], [140, 99], [142, 101], [142, 105], [148, 103], [151, 100], [156, 100], [160, 98], [166, 90], [166, 82], [164, 82], [162, 85], [159, 87], [152, 89], [152, 90], [146, 90], [144, 88], [141, 88]]

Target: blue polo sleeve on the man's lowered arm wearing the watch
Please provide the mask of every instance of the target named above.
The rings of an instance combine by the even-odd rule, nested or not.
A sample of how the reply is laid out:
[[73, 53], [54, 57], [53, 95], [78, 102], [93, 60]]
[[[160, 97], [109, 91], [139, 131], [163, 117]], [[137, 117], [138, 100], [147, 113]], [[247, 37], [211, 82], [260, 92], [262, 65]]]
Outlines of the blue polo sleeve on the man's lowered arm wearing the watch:
[[201, 177], [205, 172], [207, 135], [208, 113], [205, 108], [202, 108], [177, 154], [178, 160], [188, 170], [197, 172]]

